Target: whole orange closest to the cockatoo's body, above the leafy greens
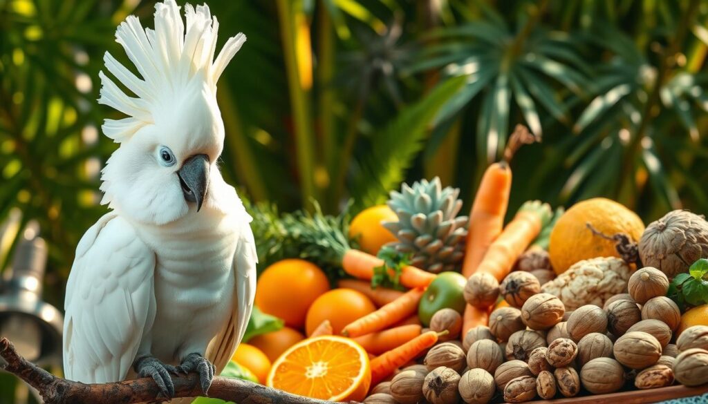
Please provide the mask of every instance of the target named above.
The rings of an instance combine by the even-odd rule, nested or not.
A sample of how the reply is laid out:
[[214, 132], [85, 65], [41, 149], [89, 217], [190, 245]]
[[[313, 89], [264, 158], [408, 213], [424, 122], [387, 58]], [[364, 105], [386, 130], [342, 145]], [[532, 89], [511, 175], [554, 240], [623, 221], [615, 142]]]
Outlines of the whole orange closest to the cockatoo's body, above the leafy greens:
[[256, 306], [263, 313], [282, 318], [292, 328], [302, 328], [307, 309], [329, 290], [329, 281], [317, 265], [305, 260], [282, 260], [265, 268], [256, 284]]

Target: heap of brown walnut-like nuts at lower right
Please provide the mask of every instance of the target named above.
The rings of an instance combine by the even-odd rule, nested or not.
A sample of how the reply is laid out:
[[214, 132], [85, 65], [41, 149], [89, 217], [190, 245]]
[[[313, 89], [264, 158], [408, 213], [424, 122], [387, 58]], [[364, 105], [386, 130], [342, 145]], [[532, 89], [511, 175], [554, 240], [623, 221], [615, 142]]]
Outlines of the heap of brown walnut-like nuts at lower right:
[[[511, 272], [501, 284], [485, 275], [470, 277], [468, 303], [484, 307], [500, 294], [509, 306], [491, 313], [489, 327], [462, 335], [462, 343], [438, 342], [423, 364], [375, 386], [365, 403], [522, 403], [581, 391], [612, 393], [629, 383], [641, 389], [708, 383], [708, 326], [687, 328], [675, 338], [680, 311], [665, 296], [663, 272], [641, 268], [629, 279], [629, 293], [571, 313], [539, 286], [525, 271]], [[440, 315], [453, 317], [440, 323], [459, 333], [455, 316]]]

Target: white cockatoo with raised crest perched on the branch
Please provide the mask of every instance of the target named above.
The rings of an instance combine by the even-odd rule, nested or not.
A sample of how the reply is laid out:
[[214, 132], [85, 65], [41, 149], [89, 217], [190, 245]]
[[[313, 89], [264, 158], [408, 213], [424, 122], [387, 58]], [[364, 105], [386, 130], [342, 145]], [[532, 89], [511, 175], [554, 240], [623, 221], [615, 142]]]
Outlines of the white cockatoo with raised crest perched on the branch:
[[84, 383], [197, 371], [207, 391], [246, 330], [256, 290], [251, 217], [217, 159], [224, 123], [216, 84], [243, 45], [215, 57], [217, 18], [206, 5], [155, 6], [155, 28], [135, 16], [115, 37], [139, 76], [105, 53], [98, 102], [129, 115], [105, 120], [120, 143], [101, 178], [111, 210], [76, 248], [64, 308], [64, 374]]

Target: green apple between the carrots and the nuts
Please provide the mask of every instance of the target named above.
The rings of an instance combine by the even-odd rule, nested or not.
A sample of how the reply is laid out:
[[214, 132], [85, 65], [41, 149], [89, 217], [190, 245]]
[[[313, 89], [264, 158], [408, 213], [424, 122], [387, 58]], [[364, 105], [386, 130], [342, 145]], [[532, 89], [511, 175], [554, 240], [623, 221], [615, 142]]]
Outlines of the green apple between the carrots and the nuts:
[[458, 313], [464, 312], [464, 285], [467, 279], [457, 272], [440, 272], [418, 304], [418, 318], [424, 326], [430, 325], [430, 318], [441, 308], [452, 308]]

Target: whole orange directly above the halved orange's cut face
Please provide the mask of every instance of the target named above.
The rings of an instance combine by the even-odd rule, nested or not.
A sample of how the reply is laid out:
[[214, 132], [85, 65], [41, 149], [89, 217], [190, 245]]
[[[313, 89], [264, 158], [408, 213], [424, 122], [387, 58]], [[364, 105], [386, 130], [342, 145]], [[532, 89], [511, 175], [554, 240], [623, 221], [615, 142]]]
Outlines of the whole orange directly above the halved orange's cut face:
[[365, 294], [354, 289], [334, 289], [319, 296], [310, 306], [305, 330], [311, 335], [317, 325], [329, 320], [333, 332], [339, 334], [345, 325], [375, 310], [376, 306]]

